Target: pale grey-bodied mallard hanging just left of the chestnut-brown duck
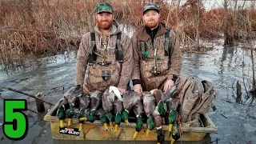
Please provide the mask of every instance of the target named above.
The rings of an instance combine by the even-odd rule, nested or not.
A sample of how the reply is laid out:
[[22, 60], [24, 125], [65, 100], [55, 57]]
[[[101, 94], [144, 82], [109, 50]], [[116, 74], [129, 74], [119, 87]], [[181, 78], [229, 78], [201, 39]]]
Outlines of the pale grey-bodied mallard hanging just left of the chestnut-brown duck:
[[144, 111], [146, 113], [146, 136], [150, 133], [150, 130], [154, 129], [155, 123], [154, 123], [154, 117], [153, 117], [153, 112], [155, 108], [155, 99], [150, 92], [144, 92], [143, 94], [143, 107]]

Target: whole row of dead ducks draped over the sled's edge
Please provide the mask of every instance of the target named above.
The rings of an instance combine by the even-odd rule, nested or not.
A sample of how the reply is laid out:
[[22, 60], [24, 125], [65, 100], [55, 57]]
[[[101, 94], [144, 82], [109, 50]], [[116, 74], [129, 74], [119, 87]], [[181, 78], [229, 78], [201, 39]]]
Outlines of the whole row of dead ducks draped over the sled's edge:
[[121, 94], [114, 86], [110, 86], [104, 93], [95, 90], [89, 94], [82, 90], [82, 86], [75, 86], [68, 90], [59, 102], [57, 115], [60, 127], [64, 127], [66, 117], [69, 118], [68, 126], [71, 126], [72, 118], [78, 117], [79, 131], [82, 130], [83, 122], [94, 122], [95, 119], [99, 119], [105, 130], [108, 130], [107, 124], [110, 124], [111, 130], [116, 132], [121, 122], [125, 122], [128, 126], [129, 117], [134, 114], [136, 116], [134, 139], [142, 130], [143, 119], [146, 119], [144, 121], [147, 127], [146, 136], [156, 127], [158, 143], [162, 143], [165, 140], [162, 124], [169, 124], [171, 143], [173, 143], [180, 138], [182, 130], [178, 114], [180, 104], [176, 96], [176, 86], [166, 94], [157, 89], [142, 94], [134, 91]]

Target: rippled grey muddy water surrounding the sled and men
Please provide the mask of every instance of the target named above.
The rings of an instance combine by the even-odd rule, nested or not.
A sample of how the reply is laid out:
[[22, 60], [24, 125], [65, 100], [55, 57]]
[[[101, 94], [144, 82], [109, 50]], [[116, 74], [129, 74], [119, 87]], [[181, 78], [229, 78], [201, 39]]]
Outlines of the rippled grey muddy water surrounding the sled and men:
[[[57, 102], [63, 91], [74, 85], [74, 66], [76, 52], [59, 54], [48, 58], [37, 58], [23, 62], [14, 68], [0, 69], [0, 85], [10, 86], [29, 94], [42, 92], [44, 99]], [[201, 142], [175, 143], [256, 143], [256, 103], [251, 101], [246, 90], [252, 83], [250, 51], [241, 46], [223, 48], [222, 41], [214, 42], [214, 49], [203, 54], [184, 53], [182, 77], [190, 76], [214, 82], [217, 98], [214, 99], [216, 111], [209, 115], [218, 126], [218, 134], [208, 134]], [[236, 103], [236, 84], [242, 86], [242, 100]], [[246, 86], [246, 89], [245, 89]], [[22, 94], [7, 90], [0, 91], [4, 98], [26, 98], [28, 107], [35, 110], [34, 100]], [[3, 123], [3, 101], [0, 100], [0, 129]], [[250, 105], [251, 104], [251, 105]], [[46, 108], [49, 106], [45, 105]], [[50, 134], [50, 122], [42, 121], [37, 114], [26, 112], [29, 117], [29, 131], [23, 143], [106, 143], [93, 141], [59, 141]], [[218, 142], [216, 141], [218, 139]], [[7, 139], [0, 130], [0, 143], [18, 143]], [[113, 142], [144, 143], [144, 142]], [[156, 143], [156, 142], [148, 142]], [[169, 142], [165, 142], [169, 143]]]

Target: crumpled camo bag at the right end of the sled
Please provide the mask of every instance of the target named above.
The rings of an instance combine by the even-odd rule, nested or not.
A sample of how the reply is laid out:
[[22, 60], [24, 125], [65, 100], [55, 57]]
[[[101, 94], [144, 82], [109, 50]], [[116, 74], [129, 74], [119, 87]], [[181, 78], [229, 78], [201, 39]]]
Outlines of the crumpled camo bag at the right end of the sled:
[[178, 84], [178, 97], [181, 102], [182, 122], [190, 126], [202, 126], [200, 114], [206, 114], [215, 98], [214, 85], [209, 81], [184, 78]]

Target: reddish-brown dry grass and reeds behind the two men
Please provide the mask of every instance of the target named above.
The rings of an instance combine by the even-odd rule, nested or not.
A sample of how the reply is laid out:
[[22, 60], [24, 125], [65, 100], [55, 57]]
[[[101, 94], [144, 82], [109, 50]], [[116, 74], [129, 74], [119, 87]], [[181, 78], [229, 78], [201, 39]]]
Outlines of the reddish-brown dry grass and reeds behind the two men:
[[[0, 6], [0, 54], [2, 62], [19, 58], [21, 54], [56, 54], [60, 50], [74, 50], [82, 34], [94, 26], [95, 6], [100, 1], [91, 0], [2, 0]], [[113, 0], [116, 19], [132, 26], [142, 25], [142, 6], [147, 1]], [[197, 1], [188, 1], [170, 10], [165, 0], [158, 1], [161, 21], [176, 30], [182, 42], [194, 41], [196, 32]], [[86, 6], [85, 6], [86, 5]], [[256, 11], [238, 11], [238, 31], [248, 25], [246, 14], [251, 14], [253, 30], [256, 30]], [[233, 29], [232, 10], [229, 11], [230, 31]], [[222, 32], [223, 9], [200, 9], [200, 38], [218, 38]], [[179, 22], [179, 23], [177, 23]], [[248, 33], [246, 33], [248, 34]]]

